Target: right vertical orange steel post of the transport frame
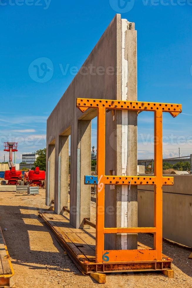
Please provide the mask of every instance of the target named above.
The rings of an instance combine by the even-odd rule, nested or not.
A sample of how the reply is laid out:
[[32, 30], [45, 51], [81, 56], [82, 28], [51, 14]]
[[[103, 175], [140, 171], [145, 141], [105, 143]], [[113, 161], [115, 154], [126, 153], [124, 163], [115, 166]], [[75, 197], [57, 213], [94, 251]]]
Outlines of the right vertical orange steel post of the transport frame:
[[154, 112], [154, 249], [157, 250], [157, 260], [162, 259], [162, 218], [163, 218], [163, 192], [162, 192], [162, 173], [163, 173], [163, 128], [162, 111]]

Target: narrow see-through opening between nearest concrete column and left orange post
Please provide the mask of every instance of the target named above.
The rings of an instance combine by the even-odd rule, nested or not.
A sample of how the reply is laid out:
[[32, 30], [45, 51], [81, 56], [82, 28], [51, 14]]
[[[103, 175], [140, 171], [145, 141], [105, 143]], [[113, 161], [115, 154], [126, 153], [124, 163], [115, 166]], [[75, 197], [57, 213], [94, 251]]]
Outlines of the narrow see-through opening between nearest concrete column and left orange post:
[[[97, 117], [91, 121], [91, 174], [97, 175]], [[91, 185], [91, 222], [96, 222], [96, 194], [97, 186]]]

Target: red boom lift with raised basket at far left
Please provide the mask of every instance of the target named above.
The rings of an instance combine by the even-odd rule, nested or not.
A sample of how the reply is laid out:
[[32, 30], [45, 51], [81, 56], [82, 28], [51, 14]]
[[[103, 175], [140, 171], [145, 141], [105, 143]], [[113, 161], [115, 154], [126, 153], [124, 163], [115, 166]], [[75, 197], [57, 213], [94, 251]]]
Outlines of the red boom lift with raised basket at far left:
[[9, 152], [9, 169], [5, 171], [4, 179], [8, 180], [8, 185], [18, 185], [19, 181], [21, 181], [21, 171], [16, 170], [15, 166], [12, 162], [12, 153], [17, 152], [18, 143], [15, 142], [6, 142], [4, 143], [4, 151]]

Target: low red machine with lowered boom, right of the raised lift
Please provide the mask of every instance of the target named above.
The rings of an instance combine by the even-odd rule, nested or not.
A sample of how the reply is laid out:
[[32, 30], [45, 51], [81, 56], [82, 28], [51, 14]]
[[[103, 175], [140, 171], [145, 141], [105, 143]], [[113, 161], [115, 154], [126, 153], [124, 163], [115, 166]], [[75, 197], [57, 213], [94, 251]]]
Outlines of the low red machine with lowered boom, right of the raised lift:
[[36, 167], [35, 170], [29, 170], [24, 173], [24, 183], [43, 187], [45, 185], [45, 171]]

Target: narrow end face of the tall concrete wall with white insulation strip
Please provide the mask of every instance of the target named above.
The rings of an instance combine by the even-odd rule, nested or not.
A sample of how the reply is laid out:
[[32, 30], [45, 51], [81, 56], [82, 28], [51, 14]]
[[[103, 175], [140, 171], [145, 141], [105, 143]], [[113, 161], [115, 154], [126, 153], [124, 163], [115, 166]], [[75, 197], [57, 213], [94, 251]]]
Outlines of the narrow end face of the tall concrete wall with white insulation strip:
[[[137, 101], [137, 31], [122, 19], [121, 100]], [[119, 136], [119, 137], [118, 137]], [[137, 112], [117, 111], [117, 175], [137, 175]], [[118, 146], [117, 146], [118, 147]], [[119, 216], [120, 215], [120, 216]], [[120, 225], [120, 226], [119, 226]], [[117, 187], [117, 226], [137, 227], [137, 187]], [[118, 249], [137, 249], [137, 235], [117, 236]]]

